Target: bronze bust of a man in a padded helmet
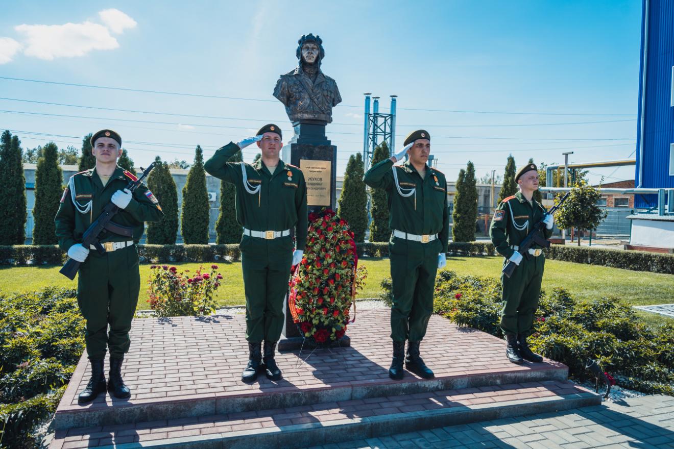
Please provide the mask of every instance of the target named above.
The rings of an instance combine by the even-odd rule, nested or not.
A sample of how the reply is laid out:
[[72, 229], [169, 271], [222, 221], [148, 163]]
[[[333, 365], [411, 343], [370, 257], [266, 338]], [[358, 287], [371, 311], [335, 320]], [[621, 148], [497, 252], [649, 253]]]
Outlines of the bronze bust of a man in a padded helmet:
[[342, 102], [337, 83], [321, 72], [325, 57], [323, 41], [307, 34], [297, 41], [297, 69], [281, 75], [274, 96], [286, 106], [288, 118], [297, 123], [332, 122], [332, 108]]

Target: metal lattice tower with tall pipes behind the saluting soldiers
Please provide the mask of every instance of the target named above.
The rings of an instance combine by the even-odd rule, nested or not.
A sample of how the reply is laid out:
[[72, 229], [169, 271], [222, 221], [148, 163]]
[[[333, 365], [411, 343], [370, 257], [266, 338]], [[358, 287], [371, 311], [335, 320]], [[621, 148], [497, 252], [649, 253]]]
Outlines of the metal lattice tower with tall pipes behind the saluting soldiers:
[[389, 151], [393, 153], [396, 145], [396, 98], [391, 96], [390, 114], [379, 112], [379, 97], [372, 97], [374, 102], [370, 112], [370, 94], [365, 95], [365, 130], [363, 136], [363, 162], [365, 170], [370, 166], [372, 155], [377, 145], [386, 142]]

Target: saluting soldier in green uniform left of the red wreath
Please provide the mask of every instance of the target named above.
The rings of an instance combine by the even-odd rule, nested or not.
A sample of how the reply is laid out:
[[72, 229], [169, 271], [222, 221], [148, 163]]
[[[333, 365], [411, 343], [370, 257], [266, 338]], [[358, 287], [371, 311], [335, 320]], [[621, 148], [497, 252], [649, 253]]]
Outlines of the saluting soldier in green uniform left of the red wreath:
[[[269, 379], [281, 378], [274, 353], [283, 329], [283, 301], [290, 267], [302, 260], [307, 242], [307, 185], [299, 168], [279, 159], [281, 139], [278, 126], [265, 125], [255, 137], [218, 149], [204, 164], [208, 173], [237, 188], [237, 221], [243, 226], [239, 248], [249, 349], [249, 361], [241, 375], [243, 382], [253, 382], [263, 368]], [[253, 142], [262, 149], [262, 157], [255, 164], [227, 162]], [[297, 249], [290, 236], [293, 228]]]

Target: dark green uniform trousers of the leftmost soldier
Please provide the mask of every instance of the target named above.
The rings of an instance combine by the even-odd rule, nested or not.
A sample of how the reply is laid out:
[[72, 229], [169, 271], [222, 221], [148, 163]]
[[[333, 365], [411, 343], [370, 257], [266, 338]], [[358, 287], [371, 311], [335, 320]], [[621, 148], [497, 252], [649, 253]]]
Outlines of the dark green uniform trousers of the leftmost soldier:
[[[84, 340], [90, 359], [129, 352], [131, 320], [138, 304], [140, 273], [136, 246], [106, 252], [90, 250], [80, 265], [78, 304], [86, 320]], [[108, 330], [110, 326], [110, 330]]]

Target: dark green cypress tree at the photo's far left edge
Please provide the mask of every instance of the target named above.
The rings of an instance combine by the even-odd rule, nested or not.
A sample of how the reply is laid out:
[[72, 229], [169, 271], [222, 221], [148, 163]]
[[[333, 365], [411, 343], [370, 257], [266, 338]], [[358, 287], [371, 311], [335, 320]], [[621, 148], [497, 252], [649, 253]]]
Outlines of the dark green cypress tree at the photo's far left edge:
[[26, 177], [19, 138], [5, 131], [0, 138], [0, 245], [22, 245], [26, 240]]

